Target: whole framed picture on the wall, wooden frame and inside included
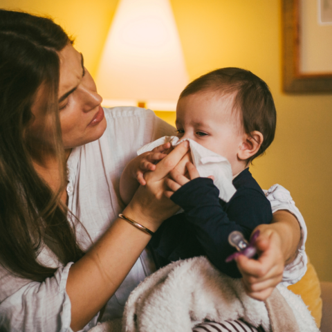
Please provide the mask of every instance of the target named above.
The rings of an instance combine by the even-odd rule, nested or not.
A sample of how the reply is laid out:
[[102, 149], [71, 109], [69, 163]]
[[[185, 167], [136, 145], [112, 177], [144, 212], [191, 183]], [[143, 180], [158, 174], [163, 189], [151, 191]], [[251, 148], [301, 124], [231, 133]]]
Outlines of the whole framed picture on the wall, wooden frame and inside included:
[[332, 0], [282, 0], [283, 89], [332, 93]]

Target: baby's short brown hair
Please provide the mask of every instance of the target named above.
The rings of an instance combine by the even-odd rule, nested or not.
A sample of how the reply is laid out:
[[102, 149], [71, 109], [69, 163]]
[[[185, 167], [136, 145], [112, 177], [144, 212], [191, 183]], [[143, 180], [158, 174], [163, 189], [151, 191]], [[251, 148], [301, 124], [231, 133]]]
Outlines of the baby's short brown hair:
[[259, 131], [264, 137], [257, 153], [246, 161], [250, 163], [263, 154], [275, 138], [277, 122], [275, 103], [268, 85], [245, 69], [221, 68], [188, 84], [182, 91], [180, 99], [187, 95], [209, 91], [221, 95], [236, 93], [233, 109], [239, 112], [243, 131], [248, 135], [252, 131]]

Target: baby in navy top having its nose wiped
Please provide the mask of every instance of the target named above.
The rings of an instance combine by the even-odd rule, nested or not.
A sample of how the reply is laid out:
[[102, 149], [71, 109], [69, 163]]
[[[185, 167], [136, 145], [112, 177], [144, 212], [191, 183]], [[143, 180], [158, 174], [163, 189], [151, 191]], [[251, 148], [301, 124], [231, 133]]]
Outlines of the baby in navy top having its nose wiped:
[[[241, 277], [228, 235], [234, 230], [246, 239], [262, 223], [272, 220], [271, 206], [249, 172], [252, 160], [268, 148], [275, 136], [276, 111], [268, 86], [240, 68], [221, 68], [199, 77], [181, 93], [176, 108], [177, 136], [199, 143], [228, 159], [235, 194], [219, 199], [212, 178], [203, 178], [190, 162], [187, 176], [173, 171], [167, 178], [168, 196], [184, 212], [164, 221], [149, 247], [157, 267], [171, 261], [205, 255], [221, 272]], [[170, 143], [146, 152], [127, 165], [120, 181], [125, 203], [145, 185], [144, 173], [166, 156]]]

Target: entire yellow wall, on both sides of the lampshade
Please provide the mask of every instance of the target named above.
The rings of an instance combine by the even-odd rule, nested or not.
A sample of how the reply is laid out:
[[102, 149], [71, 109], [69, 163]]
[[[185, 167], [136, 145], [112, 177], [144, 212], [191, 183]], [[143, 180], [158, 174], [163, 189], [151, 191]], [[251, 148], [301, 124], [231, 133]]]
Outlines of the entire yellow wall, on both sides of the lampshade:
[[[77, 36], [94, 75], [117, 0], [0, 0], [55, 17]], [[280, 0], [171, 0], [190, 78], [224, 66], [248, 68], [275, 97], [277, 135], [252, 172], [261, 187], [291, 191], [308, 225], [307, 252], [322, 280], [332, 281], [332, 95], [286, 95], [281, 82]], [[174, 121], [172, 113], [167, 120]], [[173, 117], [173, 118], [172, 118]]]

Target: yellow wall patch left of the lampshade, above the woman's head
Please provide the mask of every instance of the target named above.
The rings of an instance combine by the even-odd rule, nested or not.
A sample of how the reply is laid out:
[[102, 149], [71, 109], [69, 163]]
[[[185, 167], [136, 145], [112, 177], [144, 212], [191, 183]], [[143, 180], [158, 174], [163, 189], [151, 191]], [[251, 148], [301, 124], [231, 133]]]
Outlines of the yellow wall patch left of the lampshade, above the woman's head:
[[0, 0], [0, 8], [52, 17], [75, 38], [92, 75], [97, 71], [104, 40], [118, 0]]

